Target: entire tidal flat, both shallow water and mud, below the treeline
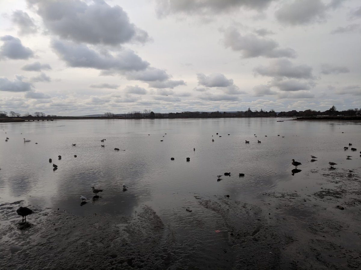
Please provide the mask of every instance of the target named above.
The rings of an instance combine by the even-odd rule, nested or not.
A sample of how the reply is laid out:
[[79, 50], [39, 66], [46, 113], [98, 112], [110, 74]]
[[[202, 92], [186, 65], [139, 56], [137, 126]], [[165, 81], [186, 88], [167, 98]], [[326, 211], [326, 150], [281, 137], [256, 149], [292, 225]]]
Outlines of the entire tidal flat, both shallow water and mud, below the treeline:
[[1, 267], [359, 269], [360, 125], [275, 121], [2, 125]]

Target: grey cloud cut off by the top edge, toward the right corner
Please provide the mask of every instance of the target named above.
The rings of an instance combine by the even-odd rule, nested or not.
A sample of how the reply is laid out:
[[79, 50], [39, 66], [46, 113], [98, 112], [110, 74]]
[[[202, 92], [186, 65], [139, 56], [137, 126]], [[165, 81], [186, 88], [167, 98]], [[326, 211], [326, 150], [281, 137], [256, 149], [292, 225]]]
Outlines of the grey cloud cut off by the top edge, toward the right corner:
[[294, 0], [275, 12], [278, 21], [297, 25], [309, 24], [316, 21], [321, 21], [325, 17], [327, 6], [321, 0]]

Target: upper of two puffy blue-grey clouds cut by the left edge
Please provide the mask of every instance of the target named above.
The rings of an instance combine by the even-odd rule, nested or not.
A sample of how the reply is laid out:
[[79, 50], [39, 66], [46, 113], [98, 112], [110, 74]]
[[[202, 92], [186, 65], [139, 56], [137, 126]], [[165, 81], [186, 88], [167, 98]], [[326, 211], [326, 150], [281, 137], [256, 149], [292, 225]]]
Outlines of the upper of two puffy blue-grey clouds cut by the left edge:
[[24, 47], [17, 37], [7, 35], [0, 37], [0, 40], [4, 42], [0, 47], [0, 59], [29, 59], [34, 56], [32, 50]]

